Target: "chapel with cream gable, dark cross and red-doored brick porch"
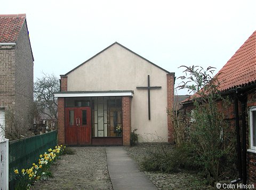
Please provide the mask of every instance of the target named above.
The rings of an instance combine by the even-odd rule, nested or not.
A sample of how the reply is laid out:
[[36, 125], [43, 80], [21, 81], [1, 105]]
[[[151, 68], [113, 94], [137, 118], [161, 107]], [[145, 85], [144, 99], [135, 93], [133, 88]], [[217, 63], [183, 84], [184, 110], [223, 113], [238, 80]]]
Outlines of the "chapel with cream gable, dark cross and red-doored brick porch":
[[139, 142], [173, 141], [173, 72], [116, 42], [60, 77], [59, 144], [130, 145], [134, 129]]

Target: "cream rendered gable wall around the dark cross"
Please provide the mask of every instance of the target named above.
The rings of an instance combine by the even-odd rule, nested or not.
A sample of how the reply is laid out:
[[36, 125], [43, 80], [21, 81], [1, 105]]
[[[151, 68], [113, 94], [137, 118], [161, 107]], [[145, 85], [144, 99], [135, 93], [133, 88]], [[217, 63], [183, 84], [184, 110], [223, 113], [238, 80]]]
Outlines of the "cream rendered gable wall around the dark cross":
[[[148, 120], [147, 76], [150, 86], [151, 120]], [[166, 72], [148, 63], [127, 49], [114, 44], [68, 75], [68, 91], [134, 90], [132, 98], [132, 130], [138, 129], [139, 142], [156, 134], [167, 142]], [[156, 137], [156, 136], [155, 136]]]

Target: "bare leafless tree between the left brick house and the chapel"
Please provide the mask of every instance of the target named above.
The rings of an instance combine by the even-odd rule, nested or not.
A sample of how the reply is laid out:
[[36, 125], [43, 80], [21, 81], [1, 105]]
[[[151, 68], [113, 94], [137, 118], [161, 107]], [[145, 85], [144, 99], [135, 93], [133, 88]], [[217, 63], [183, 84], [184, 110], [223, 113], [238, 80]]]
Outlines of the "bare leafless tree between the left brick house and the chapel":
[[57, 98], [54, 93], [60, 89], [59, 79], [53, 74], [45, 74], [34, 83], [34, 102], [40, 113], [57, 121]]

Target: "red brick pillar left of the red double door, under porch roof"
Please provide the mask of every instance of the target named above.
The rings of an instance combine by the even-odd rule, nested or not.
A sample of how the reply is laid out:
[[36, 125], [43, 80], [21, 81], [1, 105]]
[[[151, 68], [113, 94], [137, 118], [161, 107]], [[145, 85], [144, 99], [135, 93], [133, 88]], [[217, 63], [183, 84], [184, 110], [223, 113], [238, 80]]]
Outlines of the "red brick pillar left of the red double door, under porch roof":
[[64, 98], [58, 98], [58, 144], [65, 144], [65, 104]]

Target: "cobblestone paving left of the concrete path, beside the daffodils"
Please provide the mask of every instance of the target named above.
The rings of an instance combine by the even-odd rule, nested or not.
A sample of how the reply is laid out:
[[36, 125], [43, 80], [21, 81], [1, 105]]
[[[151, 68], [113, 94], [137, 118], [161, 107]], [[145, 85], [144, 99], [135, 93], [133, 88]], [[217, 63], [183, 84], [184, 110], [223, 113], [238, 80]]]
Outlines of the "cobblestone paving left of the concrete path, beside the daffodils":
[[37, 181], [31, 189], [113, 189], [105, 147], [72, 148], [76, 154], [62, 155], [52, 166], [53, 178]]

